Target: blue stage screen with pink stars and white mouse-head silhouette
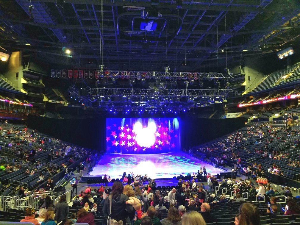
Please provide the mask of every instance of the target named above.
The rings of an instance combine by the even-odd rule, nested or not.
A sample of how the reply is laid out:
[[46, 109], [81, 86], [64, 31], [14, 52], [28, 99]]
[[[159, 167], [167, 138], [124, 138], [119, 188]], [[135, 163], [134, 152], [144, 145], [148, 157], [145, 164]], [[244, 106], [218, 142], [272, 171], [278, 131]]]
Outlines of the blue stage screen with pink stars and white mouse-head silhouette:
[[180, 118], [107, 118], [106, 151], [153, 154], [181, 149]]

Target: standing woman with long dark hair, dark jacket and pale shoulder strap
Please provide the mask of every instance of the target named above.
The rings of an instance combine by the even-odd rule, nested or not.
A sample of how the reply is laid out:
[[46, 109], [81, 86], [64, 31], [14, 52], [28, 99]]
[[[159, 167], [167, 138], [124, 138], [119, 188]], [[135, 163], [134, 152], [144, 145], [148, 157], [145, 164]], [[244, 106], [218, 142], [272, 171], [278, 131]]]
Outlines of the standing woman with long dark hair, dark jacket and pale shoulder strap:
[[110, 194], [110, 196], [108, 196], [105, 199], [104, 202], [103, 214], [106, 217], [110, 215], [110, 202], [111, 202], [112, 211], [110, 217], [117, 221], [122, 220], [123, 223], [125, 224], [126, 219], [129, 217], [129, 214], [132, 214], [132, 212], [134, 212], [134, 208], [131, 205], [126, 205], [126, 201], [129, 200], [129, 197], [123, 194], [123, 190], [124, 187], [122, 182], [115, 181], [113, 183], [112, 193]]

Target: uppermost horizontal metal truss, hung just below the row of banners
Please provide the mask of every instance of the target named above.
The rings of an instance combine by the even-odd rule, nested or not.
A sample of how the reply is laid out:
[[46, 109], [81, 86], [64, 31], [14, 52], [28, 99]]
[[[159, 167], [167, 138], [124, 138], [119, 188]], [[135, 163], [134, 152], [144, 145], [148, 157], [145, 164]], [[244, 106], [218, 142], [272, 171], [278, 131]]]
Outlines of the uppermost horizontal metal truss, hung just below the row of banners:
[[156, 72], [156, 71], [121, 71], [109, 70], [101, 72], [97, 70], [99, 78], [127, 78], [127, 79], [230, 79], [232, 73], [196, 73], [196, 72]]

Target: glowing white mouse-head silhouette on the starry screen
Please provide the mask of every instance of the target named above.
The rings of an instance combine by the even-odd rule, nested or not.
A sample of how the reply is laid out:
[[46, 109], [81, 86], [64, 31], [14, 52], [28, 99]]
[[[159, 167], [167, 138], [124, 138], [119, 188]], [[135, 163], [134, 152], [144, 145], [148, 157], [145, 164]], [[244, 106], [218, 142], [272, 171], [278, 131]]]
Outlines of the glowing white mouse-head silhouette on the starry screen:
[[133, 126], [133, 132], [136, 134], [137, 144], [141, 147], [150, 148], [155, 144], [156, 125], [150, 122], [147, 128], [143, 128], [140, 122], [136, 122]]

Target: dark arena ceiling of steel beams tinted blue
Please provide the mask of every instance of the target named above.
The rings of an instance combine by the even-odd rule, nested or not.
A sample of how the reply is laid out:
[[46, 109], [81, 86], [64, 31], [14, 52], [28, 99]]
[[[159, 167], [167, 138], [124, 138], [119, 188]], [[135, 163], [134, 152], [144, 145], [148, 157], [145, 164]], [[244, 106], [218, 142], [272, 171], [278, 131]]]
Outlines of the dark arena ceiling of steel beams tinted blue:
[[222, 73], [299, 49], [299, 23], [297, 0], [7, 0], [0, 46], [69, 67]]

